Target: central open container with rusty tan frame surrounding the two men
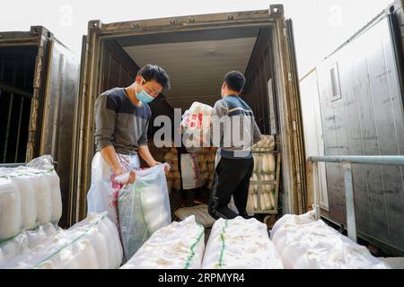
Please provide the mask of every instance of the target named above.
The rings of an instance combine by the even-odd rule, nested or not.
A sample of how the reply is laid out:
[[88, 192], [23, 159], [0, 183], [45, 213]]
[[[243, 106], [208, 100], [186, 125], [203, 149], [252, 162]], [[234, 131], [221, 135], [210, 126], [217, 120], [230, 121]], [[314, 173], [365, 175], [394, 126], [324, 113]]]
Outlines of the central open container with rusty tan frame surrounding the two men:
[[[277, 135], [282, 155], [285, 213], [303, 213], [305, 156], [292, 22], [284, 7], [142, 21], [91, 21], [83, 37], [79, 98], [75, 109], [71, 187], [75, 220], [86, 215], [94, 147], [94, 101], [102, 91], [134, 82], [139, 67], [161, 65], [171, 77], [163, 91], [173, 109], [194, 101], [214, 105], [224, 74], [239, 70], [244, 99], [263, 134]], [[154, 111], [159, 113], [158, 110]]]

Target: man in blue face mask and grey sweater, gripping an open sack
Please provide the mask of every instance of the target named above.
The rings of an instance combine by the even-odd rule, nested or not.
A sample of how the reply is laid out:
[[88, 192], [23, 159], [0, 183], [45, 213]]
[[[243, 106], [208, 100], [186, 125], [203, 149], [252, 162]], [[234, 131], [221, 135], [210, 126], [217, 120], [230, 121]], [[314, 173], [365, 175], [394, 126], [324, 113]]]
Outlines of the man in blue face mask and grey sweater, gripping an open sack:
[[98, 152], [92, 160], [89, 213], [108, 211], [110, 219], [118, 225], [118, 192], [123, 185], [135, 182], [136, 175], [131, 170], [140, 167], [138, 155], [150, 167], [161, 164], [149, 151], [147, 128], [152, 117], [148, 103], [164, 88], [170, 88], [166, 72], [158, 65], [145, 65], [137, 73], [135, 83], [105, 91], [95, 101]]

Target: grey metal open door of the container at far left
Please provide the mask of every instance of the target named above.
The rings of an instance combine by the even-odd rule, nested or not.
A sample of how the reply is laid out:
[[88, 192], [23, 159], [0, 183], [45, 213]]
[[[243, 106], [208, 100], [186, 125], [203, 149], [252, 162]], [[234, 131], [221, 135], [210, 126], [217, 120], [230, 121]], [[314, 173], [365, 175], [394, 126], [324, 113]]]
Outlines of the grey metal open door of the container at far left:
[[60, 226], [69, 227], [72, 146], [74, 116], [78, 89], [78, 57], [57, 39], [48, 43], [48, 67], [42, 100], [43, 129], [40, 135], [40, 154], [50, 154], [57, 161], [57, 173], [62, 191], [63, 216]]

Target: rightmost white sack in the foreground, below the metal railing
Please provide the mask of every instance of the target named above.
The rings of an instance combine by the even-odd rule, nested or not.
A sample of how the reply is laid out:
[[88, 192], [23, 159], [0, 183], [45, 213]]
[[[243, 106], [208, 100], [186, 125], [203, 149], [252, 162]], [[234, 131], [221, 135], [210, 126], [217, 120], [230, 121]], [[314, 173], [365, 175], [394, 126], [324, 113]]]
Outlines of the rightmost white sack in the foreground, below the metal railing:
[[275, 224], [271, 239], [288, 269], [390, 268], [367, 248], [315, 221], [313, 213], [285, 215]]

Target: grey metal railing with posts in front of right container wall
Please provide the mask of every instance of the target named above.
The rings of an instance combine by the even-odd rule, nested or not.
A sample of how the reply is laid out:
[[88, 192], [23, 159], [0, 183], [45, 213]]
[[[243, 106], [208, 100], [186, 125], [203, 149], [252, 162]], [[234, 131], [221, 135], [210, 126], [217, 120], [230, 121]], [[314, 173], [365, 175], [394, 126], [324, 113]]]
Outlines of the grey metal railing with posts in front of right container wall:
[[320, 207], [320, 177], [319, 162], [343, 163], [345, 177], [345, 196], [347, 204], [347, 233], [349, 239], [357, 241], [356, 213], [354, 196], [354, 179], [352, 176], [352, 164], [394, 165], [404, 166], [404, 156], [311, 156], [308, 164], [312, 164], [312, 180], [314, 193], [314, 207], [316, 219], [321, 218]]

